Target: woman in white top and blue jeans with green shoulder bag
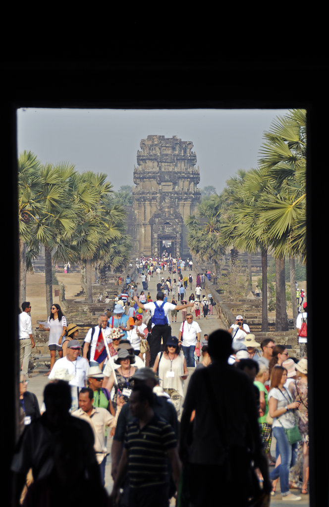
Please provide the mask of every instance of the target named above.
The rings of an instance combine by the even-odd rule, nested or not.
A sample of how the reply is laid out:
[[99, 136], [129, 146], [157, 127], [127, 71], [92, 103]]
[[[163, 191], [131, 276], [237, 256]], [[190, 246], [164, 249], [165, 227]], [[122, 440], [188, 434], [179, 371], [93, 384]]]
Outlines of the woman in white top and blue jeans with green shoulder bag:
[[[270, 478], [275, 483], [280, 477], [281, 495], [285, 501], [297, 501], [301, 500], [301, 497], [289, 492], [289, 469], [295, 462], [297, 442], [290, 444], [285, 430], [295, 426], [293, 411], [299, 408], [300, 403], [294, 402], [289, 390], [285, 389], [286, 380], [287, 370], [282, 366], [274, 367], [271, 373], [268, 401], [269, 413], [273, 418], [273, 436], [277, 442], [281, 463], [272, 470]], [[272, 494], [274, 493], [275, 486], [272, 489]]]

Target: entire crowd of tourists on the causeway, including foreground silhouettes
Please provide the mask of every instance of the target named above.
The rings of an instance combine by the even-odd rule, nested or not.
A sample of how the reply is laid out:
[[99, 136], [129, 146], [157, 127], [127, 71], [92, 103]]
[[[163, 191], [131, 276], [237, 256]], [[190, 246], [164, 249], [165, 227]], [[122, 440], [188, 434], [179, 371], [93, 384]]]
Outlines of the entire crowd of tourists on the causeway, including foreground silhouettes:
[[[60, 358], [51, 361], [40, 410], [22, 370], [22, 435], [12, 463], [17, 504], [22, 493], [24, 505], [52, 505], [59, 485], [61, 498], [84, 504], [91, 488], [101, 505], [108, 504], [102, 487], [110, 438], [111, 501], [117, 505], [167, 506], [176, 496], [180, 504], [199, 506], [218, 490], [222, 505], [247, 505], [277, 494], [279, 479], [286, 501], [301, 498], [291, 489], [308, 493], [307, 358], [289, 357], [271, 338], [258, 343], [242, 315], [228, 331], [202, 336], [201, 315], [205, 322], [216, 302], [206, 294], [210, 273], [193, 280], [192, 268], [192, 260], [166, 255], [136, 259], [136, 280], [127, 274], [82, 346], [79, 327], [52, 305], [43, 328]], [[155, 292], [149, 291], [152, 277]], [[22, 309], [28, 353], [34, 346], [27, 343], [29, 303]], [[304, 303], [300, 344], [307, 341], [306, 322]], [[65, 431], [83, 439], [79, 452]], [[31, 443], [43, 450], [40, 455]], [[63, 445], [71, 450], [67, 458]], [[70, 478], [84, 482], [85, 498], [74, 497], [68, 465]]]

